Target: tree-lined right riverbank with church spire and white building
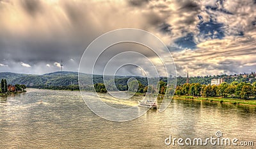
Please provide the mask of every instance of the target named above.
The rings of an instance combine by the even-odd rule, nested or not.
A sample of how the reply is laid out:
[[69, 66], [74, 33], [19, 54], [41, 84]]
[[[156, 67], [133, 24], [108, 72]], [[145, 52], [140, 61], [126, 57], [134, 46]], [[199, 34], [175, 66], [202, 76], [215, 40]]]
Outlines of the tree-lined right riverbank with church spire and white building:
[[[250, 75], [251, 78], [255, 78], [255, 73]], [[248, 77], [248, 74], [243, 77]], [[218, 78], [211, 79], [211, 84], [205, 85], [198, 82], [189, 83], [187, 75], [186, 83], [177, 86], [173, 98], [256, 106], [256, 82], [233, 81], [227, 83], [224, 78]]]

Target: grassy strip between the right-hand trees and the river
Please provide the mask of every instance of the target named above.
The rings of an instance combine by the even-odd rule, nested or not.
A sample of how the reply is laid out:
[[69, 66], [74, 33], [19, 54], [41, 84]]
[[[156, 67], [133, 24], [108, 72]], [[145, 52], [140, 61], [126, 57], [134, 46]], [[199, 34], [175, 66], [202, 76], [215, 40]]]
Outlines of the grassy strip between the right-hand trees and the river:
[[193, 96], [174, 96], [174, 99], [178, 100], [202, 100], [202, 101], [209, 101], [209, 102], [220, 102], [226, 104], [244, 104], [250, 106], [256, 106], [256, 100], [243, 100], [238, 98], [222, 98], [222, 97], [193, 97]]

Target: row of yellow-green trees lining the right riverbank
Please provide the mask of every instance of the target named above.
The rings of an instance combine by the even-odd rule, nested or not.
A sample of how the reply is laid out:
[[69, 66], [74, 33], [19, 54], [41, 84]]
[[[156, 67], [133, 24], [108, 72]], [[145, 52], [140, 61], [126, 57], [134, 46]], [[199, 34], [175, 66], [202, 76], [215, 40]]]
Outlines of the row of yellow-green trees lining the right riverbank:
[[200, 83], [185, 83], [177, 86], [175, 95], [191, 95], [202, 97], [232, 97], [232, 98], [256, 98], [256, 82], [223, 82], [220, 85], [205, 85]]

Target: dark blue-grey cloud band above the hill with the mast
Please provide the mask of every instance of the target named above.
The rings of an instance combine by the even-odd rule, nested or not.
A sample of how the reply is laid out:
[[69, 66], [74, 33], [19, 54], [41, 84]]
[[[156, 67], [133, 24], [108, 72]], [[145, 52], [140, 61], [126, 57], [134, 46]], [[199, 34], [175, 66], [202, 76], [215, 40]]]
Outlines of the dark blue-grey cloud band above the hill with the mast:
[[13, 39], [9, 38], [11, 43], [0, 39], [0, 49], [2, 54], [0, 59], [13, 59], [13, 61], [29, 61], [36, 63], [38, 61], [56, 61], [56, 59], [74, 58], [79, 61], [79, 57], [83, 54], [83, 44], [76, 44], [75, 42], [64, 42], [61, 39], [54, 39], [49, 37], [49, 40], [35, 40], [35, 39]]

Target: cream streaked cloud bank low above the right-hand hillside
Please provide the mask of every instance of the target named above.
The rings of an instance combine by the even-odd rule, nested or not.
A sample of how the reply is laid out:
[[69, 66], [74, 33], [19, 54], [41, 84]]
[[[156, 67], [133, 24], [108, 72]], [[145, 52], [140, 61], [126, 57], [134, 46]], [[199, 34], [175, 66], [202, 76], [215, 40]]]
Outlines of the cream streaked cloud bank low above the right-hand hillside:
[[[239, 44], [239, 41], [243, 44]], [[246, 40], [208, 40], [195, 50], [173, 52], [178, 75], [239, 74], [256, 68], [255, 44]], [[238, 44], [238, 45], [237, 45]]]

